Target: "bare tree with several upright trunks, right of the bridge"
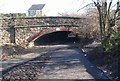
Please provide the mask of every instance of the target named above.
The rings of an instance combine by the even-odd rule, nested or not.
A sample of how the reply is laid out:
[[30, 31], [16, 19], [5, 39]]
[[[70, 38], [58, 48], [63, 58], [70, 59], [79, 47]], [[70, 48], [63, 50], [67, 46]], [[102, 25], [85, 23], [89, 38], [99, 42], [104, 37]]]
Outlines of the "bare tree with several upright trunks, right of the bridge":
[[[107, 0], [92, 0], [94, 2], [94, 5], [97, 7], [97, 10], [99, 12], [99, 27], [100, 27], [100, 34], [101, 34], [101, 43], [102, 46], [105, 46], [106, 40], [111, 35], [112, 32], [112, 26], [115, 25], [115, 16], [118, 12], [118, 9], [116, 9], [113, 17], [110, 15], [111, 5], [113, 3], [113, 0], [111, 0], [109, 3]], [[119, 4], [119, 1], [117, 2]]]

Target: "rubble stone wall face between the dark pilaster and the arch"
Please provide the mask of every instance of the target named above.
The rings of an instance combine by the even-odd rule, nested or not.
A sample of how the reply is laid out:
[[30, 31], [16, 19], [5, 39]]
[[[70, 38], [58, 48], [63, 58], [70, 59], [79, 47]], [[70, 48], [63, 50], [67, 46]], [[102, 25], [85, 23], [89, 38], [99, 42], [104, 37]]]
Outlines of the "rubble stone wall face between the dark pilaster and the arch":
[[39, 33], [39, 36], [43, 34], [54, 32], [54, 28], [17, 28], [16, 29], [16, 44], [26, 47], [30, 42], [30, 38], [33, 38], [36, 34]]

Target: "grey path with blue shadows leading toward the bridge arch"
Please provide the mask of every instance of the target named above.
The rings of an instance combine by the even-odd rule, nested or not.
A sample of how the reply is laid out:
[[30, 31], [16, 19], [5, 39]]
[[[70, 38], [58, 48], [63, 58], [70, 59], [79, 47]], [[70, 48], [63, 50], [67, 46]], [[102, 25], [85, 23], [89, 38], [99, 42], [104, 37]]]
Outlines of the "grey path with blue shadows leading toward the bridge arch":
[[64, 47], [11, 70], [6, 79], [108, 79], [78, 48]]

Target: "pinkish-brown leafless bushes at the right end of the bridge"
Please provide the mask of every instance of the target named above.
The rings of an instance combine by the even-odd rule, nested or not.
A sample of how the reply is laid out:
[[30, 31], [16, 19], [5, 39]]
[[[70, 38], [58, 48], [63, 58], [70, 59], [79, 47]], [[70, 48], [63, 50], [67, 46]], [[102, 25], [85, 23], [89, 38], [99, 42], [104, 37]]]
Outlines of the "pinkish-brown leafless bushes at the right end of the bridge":
[[63, 17], [68, 16], [82, 18], [82, 20], [80, 20], [80, 25], [77, 28], [80, 37], [87, 37], [89, 39], [93, 38], [95, 40], [98, 40], [100, 38], [98, 12], [96, 8], [86, 9], [86, 12], [83, 14], [78, 13], [68, 14], [66, 12], [59, 14]]

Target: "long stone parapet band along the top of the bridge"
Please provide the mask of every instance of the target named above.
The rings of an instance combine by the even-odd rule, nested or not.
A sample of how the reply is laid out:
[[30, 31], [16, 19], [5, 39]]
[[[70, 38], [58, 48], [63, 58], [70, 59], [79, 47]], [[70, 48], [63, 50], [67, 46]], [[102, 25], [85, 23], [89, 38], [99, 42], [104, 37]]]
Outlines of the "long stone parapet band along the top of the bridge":
[[2, 27], [35, 27], [35, 26], [60, 26], [69, 25], [79, 27], [83, 18], [78, 17], [24, 17], [3, 19]]

